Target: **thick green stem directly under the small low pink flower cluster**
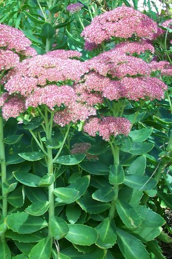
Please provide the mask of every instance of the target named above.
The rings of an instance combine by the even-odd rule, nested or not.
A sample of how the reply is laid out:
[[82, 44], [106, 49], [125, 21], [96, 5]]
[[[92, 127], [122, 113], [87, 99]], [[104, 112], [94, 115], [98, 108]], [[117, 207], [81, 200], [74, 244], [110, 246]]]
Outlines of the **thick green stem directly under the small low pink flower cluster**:
[[[119, 164], [119, 148], [114, 145], [113, 143], [111, 143], [109, 141], [112, 153], [113, 153], [113, 161], [114, 161], [114, 165], [118, 165]], [[115, 201], [118, 199], [118, 192], [119, 192], [119, 185], [114, 185], [113, 186], [114, 190], [115, 190], [115, 197], [114, 199], [111, 201], [111, 207], [109, 210], [109, 219], [113, 219], [114, 218], [114, 214], [115, 214], [115, 210], [116, 210], [116, 206], [115, 206]]]

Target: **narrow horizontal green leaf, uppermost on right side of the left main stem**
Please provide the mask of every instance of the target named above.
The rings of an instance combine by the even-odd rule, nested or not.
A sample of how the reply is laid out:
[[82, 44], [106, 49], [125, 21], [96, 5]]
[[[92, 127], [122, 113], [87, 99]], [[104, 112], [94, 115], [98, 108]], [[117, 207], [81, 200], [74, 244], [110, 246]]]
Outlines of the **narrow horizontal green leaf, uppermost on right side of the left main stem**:
[[85, 156], [86, 154], [62, 155], [59, 156], [54, 163], [62, 165], [77, 165], [85, 158]]

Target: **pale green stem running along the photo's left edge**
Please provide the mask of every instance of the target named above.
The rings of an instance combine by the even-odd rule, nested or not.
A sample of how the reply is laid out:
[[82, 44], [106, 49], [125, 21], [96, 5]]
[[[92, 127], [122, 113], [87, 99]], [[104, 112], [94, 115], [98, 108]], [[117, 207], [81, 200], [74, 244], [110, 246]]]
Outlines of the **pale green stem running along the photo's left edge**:
[[[1, 184], [2, 184], [2, 219], [7, 216], [7, 194], [3, 191], [3, 183], [6, 182], [6, 162], [5, 162], [5, 149], [3, 143], [3, 119], [0, 115], [0, 164], [1, 167]], [[4, 235], [1, 236], [1, 240], [4, 240]]]

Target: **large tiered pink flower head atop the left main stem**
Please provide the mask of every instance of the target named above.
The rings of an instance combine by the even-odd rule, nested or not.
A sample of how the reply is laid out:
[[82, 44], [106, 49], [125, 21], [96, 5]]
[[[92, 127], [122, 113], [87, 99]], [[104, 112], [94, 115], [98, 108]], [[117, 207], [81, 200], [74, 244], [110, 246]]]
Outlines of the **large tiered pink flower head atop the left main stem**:
[[[56, 57], [58, 54], [62, 58]], [[4, 85], [11, 96], [15, 95], [15, 98], [22, 96], [23, 110], [16, 109], [18, 112], [15, 116], [28, 107], [36, 108], [40, 105], [46, 105], [52, 111], [58, 110], [54, 116], [54, 122], [61, 126], [69, 124], [70, 121], [75, 123], [79, 119], [86, 120], [90, 115], [96, 115], [95, 108], [88, 104], [81, 104], [74, 89], [64, 84], [68, 80], [70, 82], [80, 80], [85, 72], [84, 63], [69, 59], [75, 56], [79, 57], [80, 53], [78, 55], [78, 52], [63, 50], [59, 53], [55, 51], [54, 55], [51, 51], [48, 54], [26, 59], [19, 66], [17, 65]], [[2, 107], [5, 119], [12, 114], [12, 104], [16, 108], [16, 103], [9, 104], [8, 100]]]

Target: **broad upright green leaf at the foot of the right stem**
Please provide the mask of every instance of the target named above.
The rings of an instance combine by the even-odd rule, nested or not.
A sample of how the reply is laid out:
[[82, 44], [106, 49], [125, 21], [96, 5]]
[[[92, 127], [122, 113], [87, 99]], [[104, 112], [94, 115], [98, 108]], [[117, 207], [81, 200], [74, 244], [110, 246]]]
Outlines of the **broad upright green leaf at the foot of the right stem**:
[[98, 247], [107, 249], [116, 243], [116, 226], [113, 220], [106, 218], [96, 227], [96, 230], [98, 232], [96, 241]]

